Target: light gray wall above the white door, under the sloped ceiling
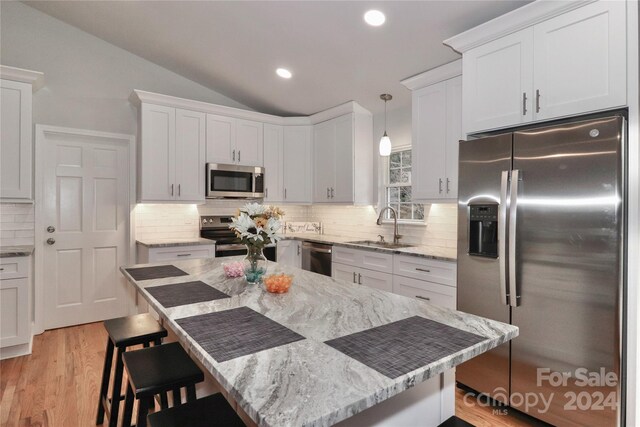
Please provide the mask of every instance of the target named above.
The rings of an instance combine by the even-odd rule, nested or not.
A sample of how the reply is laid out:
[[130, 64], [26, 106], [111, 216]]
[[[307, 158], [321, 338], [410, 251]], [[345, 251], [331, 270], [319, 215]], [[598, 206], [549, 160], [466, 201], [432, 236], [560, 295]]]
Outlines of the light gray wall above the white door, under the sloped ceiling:
[[33, 97], [37, 124], [135, 135], [133, 89], [249, 109], [14, 1], [0, 2], [0, 63], [45, 74]]

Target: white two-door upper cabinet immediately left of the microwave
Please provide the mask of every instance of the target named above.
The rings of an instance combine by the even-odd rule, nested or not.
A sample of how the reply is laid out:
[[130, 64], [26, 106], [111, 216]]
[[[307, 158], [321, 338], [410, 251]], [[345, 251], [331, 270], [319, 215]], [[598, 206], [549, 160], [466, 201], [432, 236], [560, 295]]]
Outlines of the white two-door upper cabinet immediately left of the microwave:
[[203, 202], [205, 115], [141, 105], [140, 202]]

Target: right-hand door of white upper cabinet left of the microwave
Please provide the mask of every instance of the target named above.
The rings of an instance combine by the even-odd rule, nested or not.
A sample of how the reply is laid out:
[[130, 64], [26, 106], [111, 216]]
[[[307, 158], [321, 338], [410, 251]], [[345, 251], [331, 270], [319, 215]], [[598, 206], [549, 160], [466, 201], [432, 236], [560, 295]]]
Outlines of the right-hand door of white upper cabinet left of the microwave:
[[176, 110], [176, 199], [204, 202], [206, 116]]

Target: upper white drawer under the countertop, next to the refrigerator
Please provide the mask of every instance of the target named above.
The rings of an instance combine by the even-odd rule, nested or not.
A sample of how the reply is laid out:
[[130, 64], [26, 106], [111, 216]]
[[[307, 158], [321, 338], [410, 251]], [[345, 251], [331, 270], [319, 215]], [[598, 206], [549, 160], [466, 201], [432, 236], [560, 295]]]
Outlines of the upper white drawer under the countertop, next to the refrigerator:
[[456, 286], [456, 263], [413, 256], [396, 255], [393, 274]]

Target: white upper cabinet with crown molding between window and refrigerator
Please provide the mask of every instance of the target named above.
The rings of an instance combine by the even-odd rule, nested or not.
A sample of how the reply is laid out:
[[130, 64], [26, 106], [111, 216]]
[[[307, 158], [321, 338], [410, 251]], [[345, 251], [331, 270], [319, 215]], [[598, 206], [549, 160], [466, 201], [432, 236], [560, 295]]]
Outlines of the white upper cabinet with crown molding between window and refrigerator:
[[413, 200], [458, 197], [458, 143], [462, 139], [460, 60], [404, 80], [412, 89]]

